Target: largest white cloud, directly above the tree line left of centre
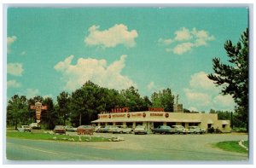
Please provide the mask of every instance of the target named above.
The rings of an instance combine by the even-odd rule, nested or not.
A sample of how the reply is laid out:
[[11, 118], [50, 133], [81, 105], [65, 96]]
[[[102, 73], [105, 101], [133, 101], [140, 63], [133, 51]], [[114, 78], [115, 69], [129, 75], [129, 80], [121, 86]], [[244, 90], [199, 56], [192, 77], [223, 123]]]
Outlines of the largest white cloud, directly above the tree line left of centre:
[[75, 90], [90, 80], [103, 87], [116, 90], [126, 89], [131, 85], [137, 86], [131, 78], [122, 75], [127, 55], [121, 55], [118, 61], [113, 61], [109, 66], [106, 60], [79, 58], [76, 64], [72, 64], [74, 55], [68, 56], [64, 61], [55, 65], [55, 70], [61, 72], [66, 82], [64, 89]]

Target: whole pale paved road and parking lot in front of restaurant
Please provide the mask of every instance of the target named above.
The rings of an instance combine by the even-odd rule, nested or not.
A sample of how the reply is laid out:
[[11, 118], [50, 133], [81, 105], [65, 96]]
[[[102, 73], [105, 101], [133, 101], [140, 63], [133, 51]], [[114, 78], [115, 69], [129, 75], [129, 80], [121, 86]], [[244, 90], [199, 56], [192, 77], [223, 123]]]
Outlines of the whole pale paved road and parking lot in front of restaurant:
[[247, 154], [226, 152], [212, 148], [214, 142], [247, 140], [245, 134], [205, 135], [113, 135], [121, 142], [54, 142], [7, 138], [8, 160], [87, 160], [87, 161], [181, 161], [230, 160], [245, 161]]

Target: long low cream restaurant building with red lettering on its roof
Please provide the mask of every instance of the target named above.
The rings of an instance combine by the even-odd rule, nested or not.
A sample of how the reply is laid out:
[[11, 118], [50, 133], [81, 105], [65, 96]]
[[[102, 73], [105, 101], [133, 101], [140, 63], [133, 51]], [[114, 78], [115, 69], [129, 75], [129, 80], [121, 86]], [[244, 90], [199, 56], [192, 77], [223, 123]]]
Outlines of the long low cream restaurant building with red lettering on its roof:
[[144, 112], [129, 112], [128, 108], [115, 108], [111, 113], [98, 114], [96, 125], [127, 125], [135, 128], [145, 125], [148, 133], [159, 125], [183, 125], [185, 128], [196, 125], [203, 129], [214, 128], [230, 132], [230, 120], [218, 120], [217, 113], [183, 113], [182, 104], [174, 104], [174, 112], [164, 112], [163, 108], [149, 107]]

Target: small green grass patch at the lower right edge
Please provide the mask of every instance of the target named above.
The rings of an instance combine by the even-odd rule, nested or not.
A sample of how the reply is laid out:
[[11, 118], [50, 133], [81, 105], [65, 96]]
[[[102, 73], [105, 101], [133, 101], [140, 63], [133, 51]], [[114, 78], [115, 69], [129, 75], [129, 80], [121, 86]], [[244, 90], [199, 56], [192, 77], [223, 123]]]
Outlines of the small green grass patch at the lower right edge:
[[[246, 147], [248, 147], [248, 142], [243, 143]], [[237, 141], [230, 141], [230, 142], [218, 142], [214, 144], [214, 147], [221, 148], [226, 151], [236, 152], [236, 153], [243, 153], [247, 154], [248, 151], [245, 148], [242, 148]]]

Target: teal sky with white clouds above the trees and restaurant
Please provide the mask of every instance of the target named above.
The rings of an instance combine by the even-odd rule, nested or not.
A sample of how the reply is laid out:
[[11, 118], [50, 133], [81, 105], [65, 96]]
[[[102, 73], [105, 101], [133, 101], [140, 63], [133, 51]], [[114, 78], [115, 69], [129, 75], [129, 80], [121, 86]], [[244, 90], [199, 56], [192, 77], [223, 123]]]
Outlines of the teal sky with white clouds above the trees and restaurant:
[[247, 28], [246, 8], [9, 8], [7, 21], [8, 99], [55, 100], [90, 79], [149, 97], [168, 87], [190, 110], [234, 109], [207, 74]]

